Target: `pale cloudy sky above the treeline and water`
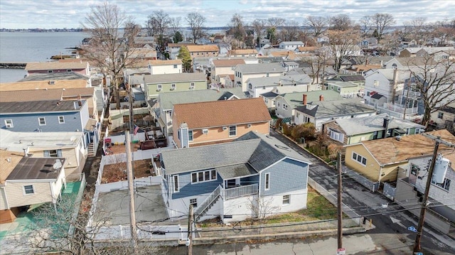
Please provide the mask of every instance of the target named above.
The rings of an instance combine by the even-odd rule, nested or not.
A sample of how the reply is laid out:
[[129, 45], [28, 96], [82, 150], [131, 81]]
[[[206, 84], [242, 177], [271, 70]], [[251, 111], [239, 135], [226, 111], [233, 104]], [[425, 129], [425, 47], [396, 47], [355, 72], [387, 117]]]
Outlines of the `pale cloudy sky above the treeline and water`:
[[[255, 18], [282, 17], [304, 22], [306, 16], [347, 14], [354, 21], [374, 13], [390, 13], [397, 25], [416, 17], [427, 21], [454, 18], [454, 0], [110, 0], [127, 15], [144, 25], [147, 16], [163, 10], [171, 17], [198, 11], [205, 16], [205, 26], [226, 26], [233, 13], [240, 13], [247, 23]], [[79, 28], [90, 6], [99, 0], [0, 0], [0, 28]]]

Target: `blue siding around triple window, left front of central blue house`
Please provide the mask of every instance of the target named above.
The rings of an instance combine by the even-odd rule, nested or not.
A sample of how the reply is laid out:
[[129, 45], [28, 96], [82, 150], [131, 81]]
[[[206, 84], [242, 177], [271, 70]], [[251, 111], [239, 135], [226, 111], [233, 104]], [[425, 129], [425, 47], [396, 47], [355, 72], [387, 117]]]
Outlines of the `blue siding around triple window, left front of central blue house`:
[[[173, 181], [172, 176], [170, 175], [171, 178], [168, 178], [168, 180]], [[220, 175], [217, 173], [217, 179], [216, 180], [211, 180], [208, 182], [204, 183], [194, 183], [191, 184], [191, 173], [181, 173], [178, 175], [178, 184], [180, 185], [180, 192], [173, 192], [172, 193], [172, 199], [178, 199], [182, 197], [195, 197], [203, 194], [207, 194], [210, 192], [213, 192], [215, 188], [218, 187], [218, 185], [222, 184], [223, 180], [220, 178]], [[203, 200], [199, 199], [198, 197], [198, 202], [202, 202], [205, 200], [205, 197], [202, 197]]]

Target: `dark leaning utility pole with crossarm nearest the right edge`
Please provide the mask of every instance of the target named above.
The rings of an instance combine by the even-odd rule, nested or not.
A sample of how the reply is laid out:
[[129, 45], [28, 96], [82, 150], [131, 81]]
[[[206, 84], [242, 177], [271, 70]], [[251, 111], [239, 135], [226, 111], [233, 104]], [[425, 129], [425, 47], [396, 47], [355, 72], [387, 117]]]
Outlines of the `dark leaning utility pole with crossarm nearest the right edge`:
[[423, 205], [422, 205], [422, 209], [420, 210], [419, 225], [417, 226], [417, 235], [415, 237], [415, 242], [414, 242], [414, 249], [413, 249], [414, 252], [422, 252], [422, 247], [420, 246], [420, 239], [422, 239], [425, 212], [427, 211], [427, 207], [428, 207], [429, 187], [430, 187], [430, 184], [432, 183], [433, 170], [434, 170], [434, 166], [436, 165], [436, 158], [437, 158], [437, 154], [438, 154], [439, 143], [442, 143], [445, 146], [455, 148], [454, 143], [449, 143], [444, 140], [441, 140], [441, 136], [433, 136], [431, 134], [423, 134], [423, 135], [428, 137], [429, 139], [433, 139], [435, 141], [435, 143], [434, 143], [434, 151], [433, 151], [433, 156], [432, 156], [432, 163], [429, 166], [429, 170], [428, 170], [427, 185], [425, 185], [425, 193], [424, 193], [423, 202], [422, 202]]

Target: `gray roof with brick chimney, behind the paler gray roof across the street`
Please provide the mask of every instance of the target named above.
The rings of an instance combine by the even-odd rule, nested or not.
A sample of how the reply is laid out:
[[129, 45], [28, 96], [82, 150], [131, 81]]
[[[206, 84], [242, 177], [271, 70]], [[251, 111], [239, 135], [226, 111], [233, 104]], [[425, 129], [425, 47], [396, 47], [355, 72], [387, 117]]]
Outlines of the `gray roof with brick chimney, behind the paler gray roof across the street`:
[[358, 99], [343, 99], [336, 101], [314, 102], [316, 107], [311, 109], [309, 105], [297, 107], [296, 111], [303, 112], [316, 118], [326, 116], [339, 116], [346, 114], [358, 114], [360, 112], [375, 112], [376, 110], [366, 104], [359, 102]]

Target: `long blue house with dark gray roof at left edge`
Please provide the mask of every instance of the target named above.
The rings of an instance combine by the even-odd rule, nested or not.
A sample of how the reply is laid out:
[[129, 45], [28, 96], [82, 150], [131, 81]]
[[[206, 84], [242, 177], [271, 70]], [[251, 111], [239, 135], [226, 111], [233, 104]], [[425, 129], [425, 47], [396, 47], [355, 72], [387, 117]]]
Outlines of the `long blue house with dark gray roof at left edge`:
[[98, 142], [100, 123], [90, 119], [86, 100], [0, 102], [0, 128], [9, 131], [84, 132], [85, 148]]

